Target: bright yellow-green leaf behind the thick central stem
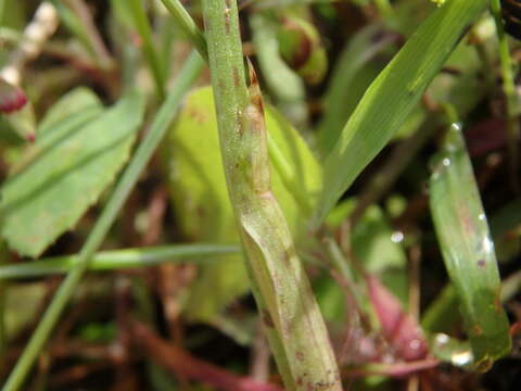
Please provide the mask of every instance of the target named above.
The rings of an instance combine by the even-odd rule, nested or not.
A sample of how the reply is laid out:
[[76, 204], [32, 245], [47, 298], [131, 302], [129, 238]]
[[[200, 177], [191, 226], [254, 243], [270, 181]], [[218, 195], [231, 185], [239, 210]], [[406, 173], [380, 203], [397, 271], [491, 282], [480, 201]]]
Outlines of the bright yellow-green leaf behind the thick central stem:
[[[271, 147], [278, 165], [272, 165], [272, 186], [289, 225], [296, 235], [306, 215], [285, 185], [297, 187], [304, 198], [314, 199], [321, 187], [320, 167], [296, 130], [267, 109]], [[230, 243], [239, 240], [225, 182], [217, 122], [209, 87], [193, 91], [170, 131], [165, 152], [170, 193], [183, 235], [192, 240]], [[283, 166], [282, 177], [277, 168]], [[316, 198], [315, 198], [316, 199]], [[212, 320], [223, 307], [244, 293], [249, 279], [240, 256], [227, 256], [205, 266], [192, 289], [187, 314]]]

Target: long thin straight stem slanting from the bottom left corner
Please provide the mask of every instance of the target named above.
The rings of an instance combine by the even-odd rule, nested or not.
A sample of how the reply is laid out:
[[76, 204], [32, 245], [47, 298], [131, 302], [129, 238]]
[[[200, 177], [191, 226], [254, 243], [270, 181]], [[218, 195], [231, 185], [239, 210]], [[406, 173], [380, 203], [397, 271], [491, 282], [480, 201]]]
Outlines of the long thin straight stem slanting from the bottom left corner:
[[89, 263], [94, 252], [99, 249], [106, 232], [117, 217], [130, 191], [139, 179], [143, 168], [147, 166], [150, 157], [157, 148], [160, 141], [163, 139], [168, 126], [174, 119], [177, 109], [181, 103], [185, 92], [194, 83], [200, 72], [203, 68], [203, 61], [200, 55], [192, 53], [185, 64], [181, 73], [178, 76], [178, 81], [174, 90], [168, 94], [167, 100], [163, 103], [157, 113], [154, 123], [145, 138], [139, 146], [130, 164], [125, 169], [114, 193], [103, 209], [103, 212], [96, 223], [94, 228], [87, 238], [75, 267], [67, 274], [67, 277], [60, 286], [54, 299], [43, 314], [42, 319], [38, 324], [33, 333], [29, 343], [25, 348], [22, 356], [16, 362], [16, 365], [8, 378], [3, 387], [3, 391], [18, 390], [24, 382], [27, 373], [33, 366], [36, 357], [40, 353], [43, 344], [49, 338], [54, 325], [56, 324], [61, 313], [65, 308], [71, 297], [74, 294], [84, 273], [88, 269]]

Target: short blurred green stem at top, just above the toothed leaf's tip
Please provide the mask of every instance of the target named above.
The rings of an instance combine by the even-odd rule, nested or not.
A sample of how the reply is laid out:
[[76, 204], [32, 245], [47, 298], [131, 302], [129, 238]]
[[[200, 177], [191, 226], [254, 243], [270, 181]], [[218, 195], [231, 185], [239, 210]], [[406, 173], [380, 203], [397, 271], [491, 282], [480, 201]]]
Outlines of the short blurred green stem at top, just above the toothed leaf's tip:
[[161, 100], [165, 98], [165, 72], [161, 66], [161, 58], [154, 47], [152, 39], [152, 28], [150, 27], [149, 20], [144, 12], [143, 1], [141, 0], [128, 0], [130, 10], [132, 12], [134, 22], [138, 28], [139, 36], [143, 42], [143, 51], [149, 63], [152, 76], [154, 78], [157, 96]]

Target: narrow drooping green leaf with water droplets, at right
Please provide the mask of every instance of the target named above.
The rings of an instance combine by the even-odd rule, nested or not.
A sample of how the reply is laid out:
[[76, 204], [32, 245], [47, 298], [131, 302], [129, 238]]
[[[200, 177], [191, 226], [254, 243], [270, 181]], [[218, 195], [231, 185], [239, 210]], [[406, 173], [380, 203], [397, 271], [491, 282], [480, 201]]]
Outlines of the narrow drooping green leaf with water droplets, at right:
[[494, 242], [460, 126], [447, 134], [430, 179], [434, 227], [458, 294], [475, 364], [486, 370], [510, 350]]

